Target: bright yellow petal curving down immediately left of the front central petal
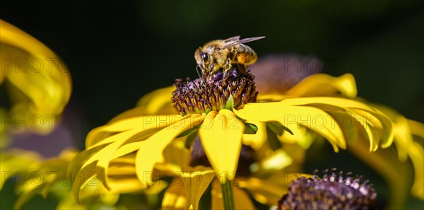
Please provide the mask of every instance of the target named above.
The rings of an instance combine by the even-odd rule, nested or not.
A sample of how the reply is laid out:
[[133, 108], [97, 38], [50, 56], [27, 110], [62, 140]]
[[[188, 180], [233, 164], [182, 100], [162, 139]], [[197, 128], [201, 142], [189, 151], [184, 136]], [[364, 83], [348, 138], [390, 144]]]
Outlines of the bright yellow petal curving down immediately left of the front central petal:
[[179, 134], [200, 124], [203, 120], [204, 117], [201, 115], [189, 115], [186, 119], [161, 129], [146, 141], [140, 141], [139, 151], [136, 154], [136, 172], [143, 185], [151, 184], [153, 165], [163, 161], [165, 147]]

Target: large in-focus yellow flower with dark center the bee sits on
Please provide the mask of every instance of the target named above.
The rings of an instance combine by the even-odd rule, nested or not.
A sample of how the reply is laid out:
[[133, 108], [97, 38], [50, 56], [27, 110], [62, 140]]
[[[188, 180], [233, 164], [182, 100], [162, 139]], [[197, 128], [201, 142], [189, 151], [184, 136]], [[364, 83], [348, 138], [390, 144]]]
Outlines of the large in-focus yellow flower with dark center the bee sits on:
[[[341, 98], [338, 94], [355, 95], [352, 76], [333, 78], [317, 74], [316, 77], [317, 81], [321, 82], [324, 78], [324, 82], [319, 86], [324, 87], [326, 90], [324, 93], [332, 96], [295, 98], [299, 95], [313, 95], [317, 86], [308, 86], [308, 83], [314, 83], [313, 78], [307, 83], [301, 82], [293, 87], [291, 89], [293, 95], [265, 95], [264, 98], [259, 96], [259, 99], [266, 100], [261, 103], [247, 103], [254, 102], [257, 97], [254, 83], [249, 76], [240, 77], [231, 74], [229, 78], [221, 79], [218, 75], [206, 84], [206, 87], [200, 79], [188, 83], [177, 81], [175, 84], [177, 91], [172, 93], [172, 101], [181, 115], [149, 115], [160, 111], [155, 110], [155, 105], [161, 107], [160, 109], [169, 110], [166, 107], [169, 107], [170, 103], [166, 98], [169, 100], [170, 91], [175, 88], [165, 88], [151, 93], [140, 101], [141, 107], [124, 112], [105, 126], [93, 129], [86, 140], [86, 151], [77, 156], [70, 170], [73, 173], [85, 174], [93, 170], [105, 187], [113, 189], [110, 184], [110, 173], [114, 168], [111, 168], [110, 164], [119, 157], [131, 155], [135, 158], [136, 177], [141, 187], [148, 189], [149, 186], [155, 185], [155, 180], [150, 175], [159, 170], [160, 165], [170, 163], [170, 160], [164, 157], [165, 149], [177, 141], [182, 141], [186, 152], [189, 151], [187, 148], [193, 151], [193, 139], [199, 135], [201, 146], [215, 173], [215, 180], [223, 185], [236, 177], [242, 145], [251, 146], [255, 150], [268, 145], [268, 151], [271, 151], [269, 153], [275, 153], [281, 148], [281, 143], [284, 143], [278, 141], [278, 136], [281, 139], [282, 134], [299, 136], [298, 138], [302, 139], [300, 136], [305, 134], [305, 131], [313, 131], [328, 139], [335, 151], [339, 148], [346, 149], [346, 144], [355, 141], [355, 136], [365, 136], [370, 142], [369, 151], [391, 144], [392, 125], [385, 115], [370, 105], [358, 100]], [[159, 95], [160, 93], [168, 96]], [[275, 98], [279, 101], [268, 102]], [[351, 120], [353, 129], [344, 126], [343, 119]], [[184, 157], [187, 158], [179, 156], [176, 159]], [[283, 160], [290, 158], [287, 157]], [[280, 159], [276, 163], [281, 165], [283, 162]], [[182, 167], [181, 164], [177, 165]], [[261, 162], [261, 165], [272, 165], [272, 161]], [[177, 168], [177, 170], [183, 173], [190, 171], [209, 173], [204, 169]], [[179, 179], [193, 178], [191, 175], [192, 173], [181, 175]], [[93, 176], [94, 174], [84, 177], [83, 182]], [[252, 189], [252, 192], [260, 191], [258, 184], [263, 182], [258, 181], [259, 179], [255, 182], [254, 177], [252, 179], [250, 181], [257, 187], [247, 186], [246, 183], [249, 182], [242, 182], [247, 186], [245, 188]], [[278, 179], [272, 180], [275, 182]], [[80, 184], [74, 183], [73, 187], [77, 198], [81, 189]], [[174, 194], [182, 194], [181, 190], [184, 189], [177, 188], [170, 187], [169, 190], [175, 191]], [[186, 188], [187, 201], [190, 202], [182, 202], [178, 196], [171, 200], [175, 205], [184, 203], [186, 208], [196, 207], [196, 202], [199, 202], [199, 197], [205, 189]], [[284, 187], [276, 189], [284, 192]], [[218, 192], [218, 189], [214, 192]], [[269, 204], [266, 195], [257, 193], [255, 199]]]

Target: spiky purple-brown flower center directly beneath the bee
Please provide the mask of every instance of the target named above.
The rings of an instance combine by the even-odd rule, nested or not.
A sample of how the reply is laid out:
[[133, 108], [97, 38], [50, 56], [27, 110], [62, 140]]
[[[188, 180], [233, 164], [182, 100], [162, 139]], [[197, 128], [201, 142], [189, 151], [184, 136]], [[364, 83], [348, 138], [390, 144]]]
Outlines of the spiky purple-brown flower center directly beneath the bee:
[[[225, 75], [225, 76], [224, 76]], [[226, 74], [221, 72], [208, 76], [206, 81], [200, 78], [194, 81], [177, 79], [172, 93], [172, 103], [181, 115], [208, 113], [225, 108], [232, 96], [233, 107], [255, 102], [258, 92], [254, 86], [252, 74], [238, 74], [231, 69]]]

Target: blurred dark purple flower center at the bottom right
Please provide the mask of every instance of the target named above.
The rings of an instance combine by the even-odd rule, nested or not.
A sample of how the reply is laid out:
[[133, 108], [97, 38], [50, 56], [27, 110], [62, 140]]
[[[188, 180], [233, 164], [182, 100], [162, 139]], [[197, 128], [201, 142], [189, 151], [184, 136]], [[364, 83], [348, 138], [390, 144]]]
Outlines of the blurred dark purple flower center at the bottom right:
[[290, 184], [288, 194], [278, 201], [278, 209], [375, 209], [377, 194], [362, 177], [343, 177], [336, 169], [324, 171], [320, 179], [317, 170], [314, 178], [300, 177]]

